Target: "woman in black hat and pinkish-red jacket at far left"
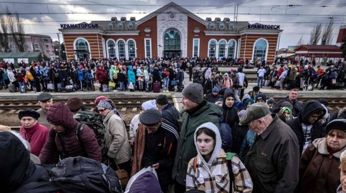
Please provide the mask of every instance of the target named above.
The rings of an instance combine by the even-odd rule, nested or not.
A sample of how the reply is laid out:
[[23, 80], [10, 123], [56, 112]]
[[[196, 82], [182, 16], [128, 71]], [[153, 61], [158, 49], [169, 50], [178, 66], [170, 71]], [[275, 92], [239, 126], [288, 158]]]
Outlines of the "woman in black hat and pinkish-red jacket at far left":
[[36, 156], [40, 155], [49, 135], [49, 129], [39, 123], [39, 117], [40, 114], [34, 110], [22, 110], [18, 114], [22, 123], [19, 134], [30, 143], [30, 151]]

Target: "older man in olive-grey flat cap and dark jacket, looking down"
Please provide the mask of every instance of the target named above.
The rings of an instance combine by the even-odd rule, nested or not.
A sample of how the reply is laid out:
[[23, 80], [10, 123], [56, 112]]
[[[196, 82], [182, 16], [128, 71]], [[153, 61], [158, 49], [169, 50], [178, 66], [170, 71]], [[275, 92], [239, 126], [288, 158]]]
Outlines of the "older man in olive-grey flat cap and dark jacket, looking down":
[[256, 132], [244, 157], [254, 183], [253, 193], [293, 193], [298, 184], [299, 145], [292, 129], [263, 103], [251, 105], [240, 118]]

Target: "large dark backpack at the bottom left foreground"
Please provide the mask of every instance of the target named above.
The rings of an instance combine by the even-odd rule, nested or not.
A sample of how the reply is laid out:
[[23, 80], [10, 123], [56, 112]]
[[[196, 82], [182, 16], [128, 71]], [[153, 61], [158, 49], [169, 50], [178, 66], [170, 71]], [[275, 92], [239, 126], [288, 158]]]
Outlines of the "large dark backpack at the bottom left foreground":
[[67, 157], [50, 174], [60, 193], [123, 193], [114, 170], [87, 157]]

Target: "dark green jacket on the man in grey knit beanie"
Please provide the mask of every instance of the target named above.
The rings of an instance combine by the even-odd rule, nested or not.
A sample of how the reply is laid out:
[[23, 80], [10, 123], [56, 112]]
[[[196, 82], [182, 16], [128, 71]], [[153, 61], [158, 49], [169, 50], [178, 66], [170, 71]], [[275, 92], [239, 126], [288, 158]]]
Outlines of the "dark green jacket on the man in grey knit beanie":
[[222, 109], [204, 100], [199, 109], [182, 116], [182, 126], [177, 151], [175, 154], [172, 178], [179, 184], [185, 185], [187, 165], [197, 155], [193, 134], [198, 126], [206, 122], [214, 123], [218, 128], [218, 118]]

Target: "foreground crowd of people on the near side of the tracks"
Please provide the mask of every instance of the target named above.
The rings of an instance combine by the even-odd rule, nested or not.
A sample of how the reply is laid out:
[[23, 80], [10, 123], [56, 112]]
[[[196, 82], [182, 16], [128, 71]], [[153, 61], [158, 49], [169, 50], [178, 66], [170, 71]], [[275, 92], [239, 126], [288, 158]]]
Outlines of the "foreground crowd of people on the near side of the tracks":
[[[346, 193], [346, 108], [331, 115], [327, 100], [302, 103], [297, 88], [276, 102], [257, 89], [238, 101], [234, 87], [207, 94], [191, 83], [180, 110], [165, 94], [141, 104], [129, 132], [106, 96], [87, 110], [80, 98], [54, 103], [43, 92], [40, 110], [19, 112], [19, 133], [0, 126], [2, 190], [54, 192], [67, 181], [55, 184], [46, 164], [82, 156], [114, 169], [130, 193]], [[135, 179], [125, 189], [127, 175]]]

